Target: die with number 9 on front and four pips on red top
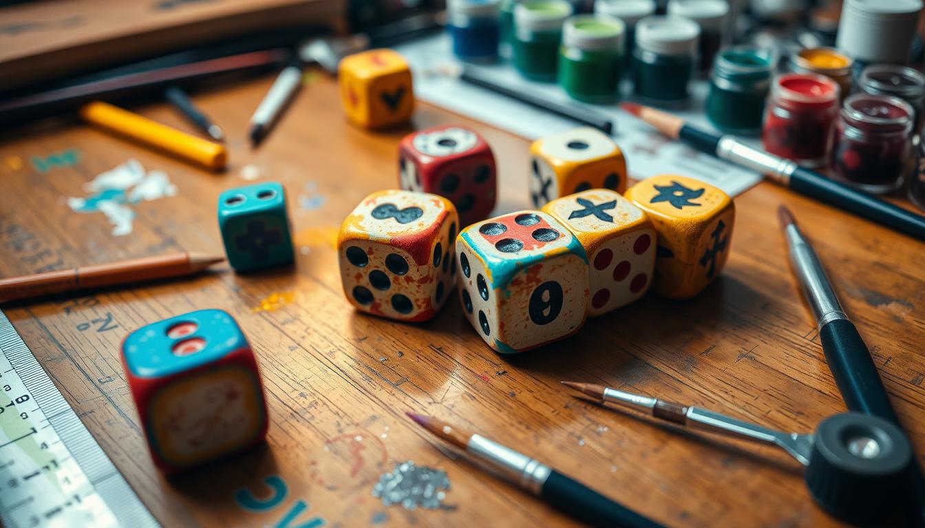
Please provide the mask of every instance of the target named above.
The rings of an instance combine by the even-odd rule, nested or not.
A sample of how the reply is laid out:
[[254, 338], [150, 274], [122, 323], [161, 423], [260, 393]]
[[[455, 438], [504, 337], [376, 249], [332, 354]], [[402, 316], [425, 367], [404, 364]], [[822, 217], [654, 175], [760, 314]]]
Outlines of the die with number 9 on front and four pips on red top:
[[585, 324], [586, 252], [552, 216], [520, 211], [473, 224], [456, 256], [462, 311], [492, 349], [534, 349]]

